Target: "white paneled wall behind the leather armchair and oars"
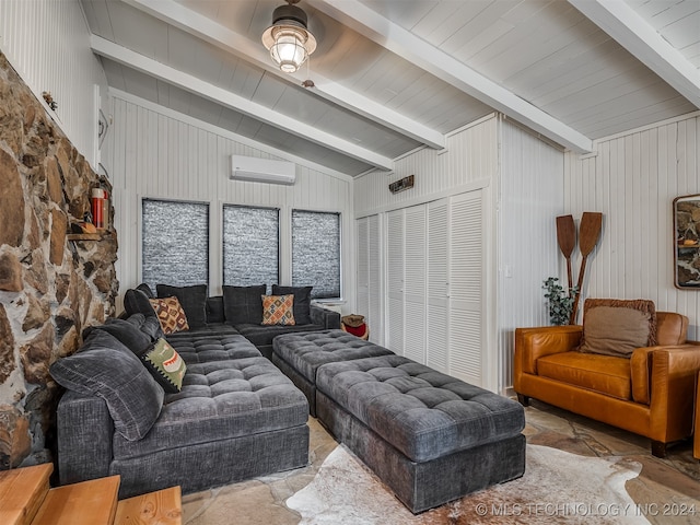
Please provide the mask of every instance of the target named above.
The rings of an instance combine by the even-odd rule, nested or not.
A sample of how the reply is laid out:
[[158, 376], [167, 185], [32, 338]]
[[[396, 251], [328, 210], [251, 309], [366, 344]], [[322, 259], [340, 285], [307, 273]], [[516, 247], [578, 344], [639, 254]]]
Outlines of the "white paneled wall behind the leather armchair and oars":
[[674, 287], [672, 215], [674, 198], [700, 192], [699, 145], [696, 113], [600, 140], [594, 155], [567, 154], [567, 212], [604, 215], [582, 301], [651, 299], [658, 311], [687, 315], [688, 337], [699, 337], [700, 293]]

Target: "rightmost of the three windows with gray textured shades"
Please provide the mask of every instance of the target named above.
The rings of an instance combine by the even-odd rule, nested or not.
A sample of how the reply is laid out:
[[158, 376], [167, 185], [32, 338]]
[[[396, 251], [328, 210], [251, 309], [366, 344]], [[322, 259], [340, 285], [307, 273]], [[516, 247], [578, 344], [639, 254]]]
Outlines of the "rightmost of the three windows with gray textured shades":
[[292, 285], [340, 298], [340, 213], [292, 210]]

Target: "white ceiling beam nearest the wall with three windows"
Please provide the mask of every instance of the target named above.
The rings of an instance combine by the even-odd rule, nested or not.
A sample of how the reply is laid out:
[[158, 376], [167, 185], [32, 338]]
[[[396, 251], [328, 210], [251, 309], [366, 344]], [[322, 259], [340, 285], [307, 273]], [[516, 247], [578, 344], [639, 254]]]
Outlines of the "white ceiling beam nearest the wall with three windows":
[[127, 68], [149, 74], [150, 77], [162, 80], [171, 85], [175, 85], [187, 92], [221, 104], [222, 106], [235, 109], [236, 112], [266, 122], [278, 129], [340, 152], [366, 164], [388, 171], [394, 168], [394, 161], [387, 156], [380, 155], [353, 142], [340, 139], [339, 137], [326, 131], [322, 131], [306, 122], [282, 115], [275, 109], [270, 109], [269, 107], [252, 102], [243, 96], [236, 95], [235, 93], [231, 93], [228, 90], [210, 84], [209, 82], [205, 82], [197, 77], [179, 71], [105, 38], [92, 35], [90, 45], [93, 52], [96, 55], [114, 60]]

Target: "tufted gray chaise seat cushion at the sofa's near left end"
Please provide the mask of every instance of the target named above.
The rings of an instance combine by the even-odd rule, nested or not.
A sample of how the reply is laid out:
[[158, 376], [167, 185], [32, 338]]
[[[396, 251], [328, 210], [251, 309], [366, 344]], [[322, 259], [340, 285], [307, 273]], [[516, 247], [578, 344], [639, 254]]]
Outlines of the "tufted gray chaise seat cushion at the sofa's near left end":
[[262, 357], [187, 368], [183, 389], [167, 394], [161, 417], [139, 442], [116, 435], [116, 459], [304, 425], [304, 395]]

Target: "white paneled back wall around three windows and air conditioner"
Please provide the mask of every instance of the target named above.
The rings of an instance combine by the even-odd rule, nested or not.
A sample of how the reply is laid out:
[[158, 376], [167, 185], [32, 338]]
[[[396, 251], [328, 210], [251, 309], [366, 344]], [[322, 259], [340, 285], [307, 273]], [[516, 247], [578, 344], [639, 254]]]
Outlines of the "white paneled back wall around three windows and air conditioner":
[[[281, 186], [230, 180], [232, 154], [279, 159], [265, 147], [237, 140], [225, 130], [165, 108], [112, 97], [114, 125], [105, 163], [115, 194], [119, 232], [117, 273], [124, 292], [140, 279], [140, 199], [165, 198], [210, 203], [210, 294], [221, 293], [221, 208], [224, 203], [280, 209], [281, 283], [291, 280], [291, 211], [294, 208], [341, 213], [342, 293], [354, 305], [354, 226], [352, 182], [296, 161], [296, 183]], [[287, 159], [284, 159], [287, 160]], [[352, 262], [351, 262], [352, 261]], [[348, 312], [350, 313], [350, 312]]]

